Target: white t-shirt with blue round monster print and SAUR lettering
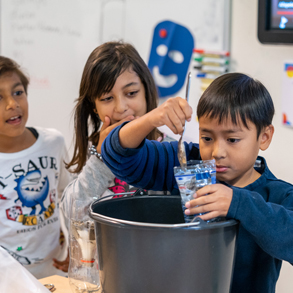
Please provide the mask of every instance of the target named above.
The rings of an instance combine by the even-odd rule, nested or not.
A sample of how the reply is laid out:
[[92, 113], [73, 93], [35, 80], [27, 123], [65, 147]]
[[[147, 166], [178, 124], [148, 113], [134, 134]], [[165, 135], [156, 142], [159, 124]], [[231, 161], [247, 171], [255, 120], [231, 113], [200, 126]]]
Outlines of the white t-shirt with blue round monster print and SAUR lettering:
[[0, 245], [42, 278], [57, 273], [52, 258], [65, 256], [59, 197], [70, 177], [63, 136], [54, 129], [36, 130], [37, 141], [28, 149], [0, 153]]

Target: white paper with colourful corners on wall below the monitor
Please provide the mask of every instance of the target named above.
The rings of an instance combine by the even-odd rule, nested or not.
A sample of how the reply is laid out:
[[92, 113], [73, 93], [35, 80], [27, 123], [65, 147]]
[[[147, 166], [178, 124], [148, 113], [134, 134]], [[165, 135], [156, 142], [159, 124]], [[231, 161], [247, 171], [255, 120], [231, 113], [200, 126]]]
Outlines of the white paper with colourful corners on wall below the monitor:
[[282, 122], [293, 127], [293, 61], [284, 63], [282, 79]]

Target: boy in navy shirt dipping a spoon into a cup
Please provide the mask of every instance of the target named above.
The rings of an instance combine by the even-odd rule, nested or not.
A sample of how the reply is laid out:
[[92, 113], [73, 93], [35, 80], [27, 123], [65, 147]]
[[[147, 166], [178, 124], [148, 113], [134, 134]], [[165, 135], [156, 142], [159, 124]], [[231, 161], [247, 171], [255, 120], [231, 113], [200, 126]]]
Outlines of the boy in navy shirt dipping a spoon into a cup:
[[[182, 133], [191, 114], [185, 100], [174, 98], [115, 128], [102, 145], [104, 162], [129, 184], [173, 191], [178, 143], [145, 137], [162, 125]], [[271, 143], [273, 115], [271, 96], [259, 81], [225, 74], [212, 82], [198, 103], [199, 145], [185, 143], [188, 160], [216, 161], [219, 182], [198, 190], [185, 213], [240, 222], [233, 293], [275, 292], [282, 260], [293, 263], [293, 186], [277, 179], [258, 157], [259, 150]]]

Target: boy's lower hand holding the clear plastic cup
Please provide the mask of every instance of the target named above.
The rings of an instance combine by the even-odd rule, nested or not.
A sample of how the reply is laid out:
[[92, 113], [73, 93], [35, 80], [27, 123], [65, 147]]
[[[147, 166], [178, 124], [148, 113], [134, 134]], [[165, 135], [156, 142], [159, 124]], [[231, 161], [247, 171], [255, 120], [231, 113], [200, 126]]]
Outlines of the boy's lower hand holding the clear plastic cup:
[[223, 184], [211, 184], [199, 189], [193, 197], [195, 199], [185, 204], [187, 208], [185, 214], [206, 213], [199, 216], [206, 221], [216, 217], [226, 217], [232, 201], [233, 190]]

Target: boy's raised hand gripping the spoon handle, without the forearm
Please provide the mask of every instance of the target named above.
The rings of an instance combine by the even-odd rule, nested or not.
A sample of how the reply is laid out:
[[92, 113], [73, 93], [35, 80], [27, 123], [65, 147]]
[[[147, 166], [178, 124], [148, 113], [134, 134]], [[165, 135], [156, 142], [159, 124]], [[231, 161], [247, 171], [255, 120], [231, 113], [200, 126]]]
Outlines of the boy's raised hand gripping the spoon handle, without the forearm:
[[191, 120], [192, 108], [186, 100], [169, 98], [158, 108], [146, 114], [153, 127], [168, 126], [175, 134], [181, 134], [185, 121]]

